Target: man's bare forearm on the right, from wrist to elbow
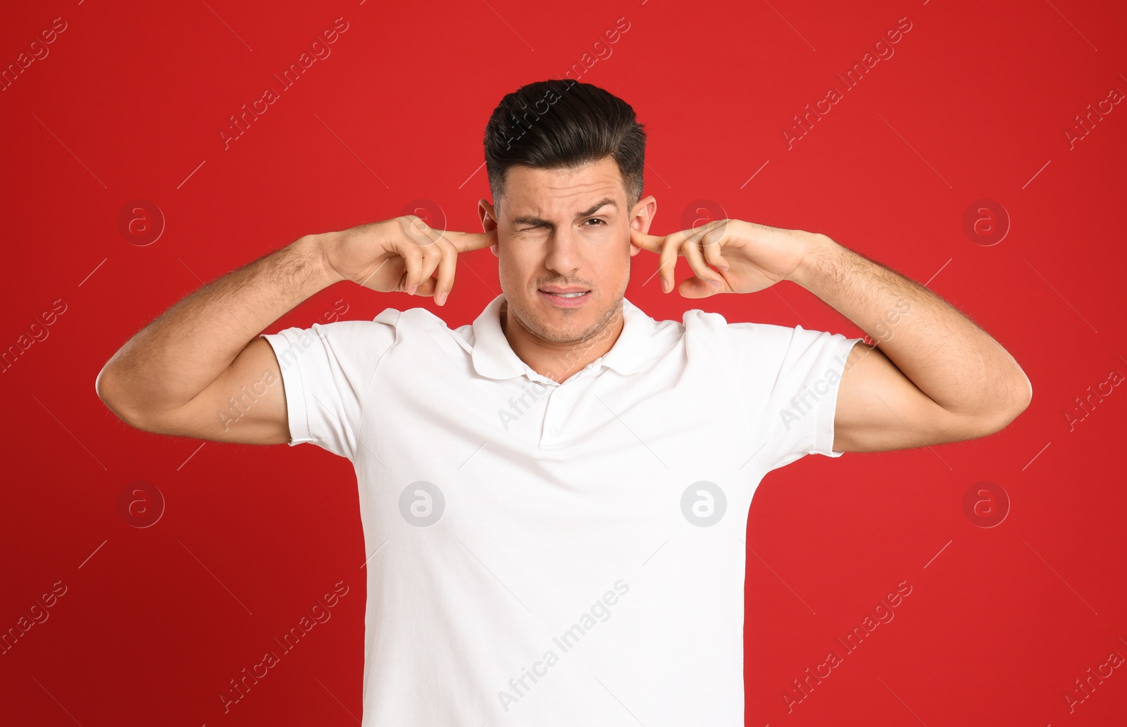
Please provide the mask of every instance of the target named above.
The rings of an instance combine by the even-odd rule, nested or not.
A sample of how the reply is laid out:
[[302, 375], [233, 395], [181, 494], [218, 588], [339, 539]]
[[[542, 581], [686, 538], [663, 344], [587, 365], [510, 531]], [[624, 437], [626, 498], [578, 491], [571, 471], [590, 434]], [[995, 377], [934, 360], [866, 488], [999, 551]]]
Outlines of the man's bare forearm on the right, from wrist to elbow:
[[923, 285], [826, 236], [790, 280], [861, 327], [948, 411], [995, 417], [1028, 405], [1031, 384], [1013, 356]]

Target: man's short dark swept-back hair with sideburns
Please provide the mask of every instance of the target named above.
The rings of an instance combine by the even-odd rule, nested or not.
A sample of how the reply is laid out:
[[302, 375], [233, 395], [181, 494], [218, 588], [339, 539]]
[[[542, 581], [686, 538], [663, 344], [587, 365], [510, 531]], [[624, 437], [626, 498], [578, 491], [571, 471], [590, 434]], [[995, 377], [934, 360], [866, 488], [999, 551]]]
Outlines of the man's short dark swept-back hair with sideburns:
[[486, 124], [485, 148], [498, 206], [513, 165], [562, 169], [606, 157], [619, 166], [628, 206], [641, 198], [646, 131], [630, 104], [591, 83], [552, 79], [507, 94]]

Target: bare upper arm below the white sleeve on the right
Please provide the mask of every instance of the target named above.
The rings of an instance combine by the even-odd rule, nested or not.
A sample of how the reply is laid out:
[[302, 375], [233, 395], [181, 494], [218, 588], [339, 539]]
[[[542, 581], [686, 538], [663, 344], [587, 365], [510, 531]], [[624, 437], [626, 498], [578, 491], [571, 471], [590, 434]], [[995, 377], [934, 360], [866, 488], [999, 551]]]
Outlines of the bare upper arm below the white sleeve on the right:
[[834, 415], [834, 450], [884, 452], [984, 436], [920, 390], [879, 347], [855, 344], [845, 362]]

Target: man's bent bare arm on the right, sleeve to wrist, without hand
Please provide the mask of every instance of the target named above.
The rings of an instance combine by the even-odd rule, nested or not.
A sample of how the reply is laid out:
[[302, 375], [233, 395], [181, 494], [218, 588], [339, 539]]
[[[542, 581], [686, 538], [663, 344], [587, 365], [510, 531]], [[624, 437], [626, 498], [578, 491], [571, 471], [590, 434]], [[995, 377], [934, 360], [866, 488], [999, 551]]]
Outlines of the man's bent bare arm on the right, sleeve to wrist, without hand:
[[834, 449], [877, 452], [1003, 429], [1032, 399], [1013, 356], [949, 302], [826, 236], [790, 277], [877, 343], [845, 362]]

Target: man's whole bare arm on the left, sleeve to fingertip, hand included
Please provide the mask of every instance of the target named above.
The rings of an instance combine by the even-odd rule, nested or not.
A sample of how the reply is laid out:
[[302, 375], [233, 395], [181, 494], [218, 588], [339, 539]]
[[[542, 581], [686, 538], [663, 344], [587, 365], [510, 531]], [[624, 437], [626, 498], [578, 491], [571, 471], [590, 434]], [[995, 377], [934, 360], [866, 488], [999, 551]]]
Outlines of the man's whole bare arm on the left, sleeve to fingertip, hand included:
[[458, 252], [495, 241], [496, 233], [434, 230], [415, 215], [302, 237], [204, 285], [134, 335], [98, 373], [98, 397], [147, 432], [285, 444], [281, 367], [258, 337], [267, 326], [346, 280], [443, 304]]

